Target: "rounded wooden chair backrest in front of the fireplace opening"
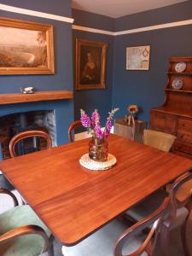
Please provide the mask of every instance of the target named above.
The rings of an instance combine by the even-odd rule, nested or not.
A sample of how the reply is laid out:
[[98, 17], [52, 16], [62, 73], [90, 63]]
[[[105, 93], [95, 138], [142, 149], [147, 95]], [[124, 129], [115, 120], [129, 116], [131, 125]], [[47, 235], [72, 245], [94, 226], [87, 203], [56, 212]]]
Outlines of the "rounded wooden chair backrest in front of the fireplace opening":
[[12, 139], [9, 142], [9, 152], [11, 157], [17, 156], [15, 152], [16, 144], [28, 137], [44, 137], [47, 143], [47, 148], [51, 148], [52, 146], [51, 138], [49, 137], [49, 134], [45, 131], [39, 131], [39, 130], [21, 131], [20, 133], [15, 135], [15, 137], [12, 137]]

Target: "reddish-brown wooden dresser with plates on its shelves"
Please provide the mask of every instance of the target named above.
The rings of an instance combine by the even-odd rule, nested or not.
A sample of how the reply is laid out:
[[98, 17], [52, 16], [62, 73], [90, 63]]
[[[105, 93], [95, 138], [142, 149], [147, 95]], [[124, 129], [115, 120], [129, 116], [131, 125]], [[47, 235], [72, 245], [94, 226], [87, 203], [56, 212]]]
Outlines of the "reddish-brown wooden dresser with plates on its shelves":
[[172, 57], [163, 106], [150, 110], [150, 128], [177, 137], [172, 152], [192, 159], [192, 57]]

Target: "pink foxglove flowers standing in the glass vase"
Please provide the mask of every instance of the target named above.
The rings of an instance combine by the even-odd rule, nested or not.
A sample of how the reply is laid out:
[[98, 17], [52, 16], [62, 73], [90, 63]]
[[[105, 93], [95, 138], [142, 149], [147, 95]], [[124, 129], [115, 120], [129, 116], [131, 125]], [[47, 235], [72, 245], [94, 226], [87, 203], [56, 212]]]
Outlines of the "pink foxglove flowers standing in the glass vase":
[[87, 128], [88, 133], [92, 137], [97, 137], [100, 140], [105, 140], [109, 136], [111, 128], [113, 126], [113, 115], [118, 110], [119, 108], [113, 108], [111, 112], [108, 113], [108, 119], [104, 130], [102, 130], [102, 126], [100, 123], [100, 114], [98, 113], [97, 109], [95, 109], [95, 111], [91, 114], [91, 118], [85, 113], [83, 109], [81, 109], [81, 123], [85, 128]]

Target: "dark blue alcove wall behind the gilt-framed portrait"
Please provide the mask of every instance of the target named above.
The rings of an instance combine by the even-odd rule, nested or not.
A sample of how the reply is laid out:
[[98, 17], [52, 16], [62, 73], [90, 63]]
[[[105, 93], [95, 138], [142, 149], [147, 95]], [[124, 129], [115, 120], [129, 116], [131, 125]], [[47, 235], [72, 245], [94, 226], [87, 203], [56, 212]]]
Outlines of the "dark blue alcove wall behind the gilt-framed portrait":
[[[113, 30], [113, 19], [94, 15], [88, 12], [73, 10], [73, 18], [75, 24], [79, 26], [88, 26], [102, 30]], [[91, 26], [90, 26], [91, 25]], [[87, 113], [91, 113], [94, 109], [98, 109], [101, 114], [102, 124], [107, 119], [108, 111], [112, 108], [112, 87], [113, 87], [113, 37], [73, 30], [73, 59], [75, 60], [75, 40], [83, 38], [90, 41], [99, 41], [108, 43], [107, 55], [107, 78], [105, 90], [74, 90], [74, 116], [79, 119], [79, 109], [83, 108]], [[75, 61], [74, 61], [75, 63]], [[73, 67], [75, 76], [75, 66]], [[75, 81], [75, 78], [74, 78]]]

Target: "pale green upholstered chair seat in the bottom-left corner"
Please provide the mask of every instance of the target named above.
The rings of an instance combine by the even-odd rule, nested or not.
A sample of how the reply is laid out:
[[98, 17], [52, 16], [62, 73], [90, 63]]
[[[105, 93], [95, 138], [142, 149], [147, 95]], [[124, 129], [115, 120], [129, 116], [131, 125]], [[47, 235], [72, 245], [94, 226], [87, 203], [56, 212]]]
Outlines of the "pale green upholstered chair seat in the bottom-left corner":
[[[19, 206], [0, 215], [0, 235], [27, 224], [35, 224], [44, 229], [50, 237], [50, 231], [28, 205]], [[25, 235], [4, 242], [0, 247], [1, 256], [38, 256], [44, 247], [44, 239], [38, 235]]]

